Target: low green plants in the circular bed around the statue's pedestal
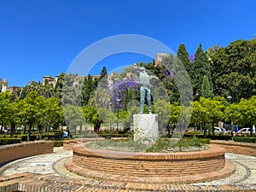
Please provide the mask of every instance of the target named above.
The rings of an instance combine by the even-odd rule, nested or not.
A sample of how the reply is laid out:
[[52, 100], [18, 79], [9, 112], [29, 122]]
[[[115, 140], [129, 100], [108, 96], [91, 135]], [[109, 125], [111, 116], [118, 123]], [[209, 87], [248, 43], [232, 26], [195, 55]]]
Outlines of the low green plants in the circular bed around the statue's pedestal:
[[200, 151], [209, 147], [197, 138], [182, 138], [179, 141], [165, 139], [159, 140], [153, 146], [146, 146], [143, 143], [136, 143], [133, 140], [110, 140], [105, 139], [93, 143], [86, 143], [87, 148], [97, 148], [125, 152], [146, 152], [146, 153], [170, 153], [180, 151]]

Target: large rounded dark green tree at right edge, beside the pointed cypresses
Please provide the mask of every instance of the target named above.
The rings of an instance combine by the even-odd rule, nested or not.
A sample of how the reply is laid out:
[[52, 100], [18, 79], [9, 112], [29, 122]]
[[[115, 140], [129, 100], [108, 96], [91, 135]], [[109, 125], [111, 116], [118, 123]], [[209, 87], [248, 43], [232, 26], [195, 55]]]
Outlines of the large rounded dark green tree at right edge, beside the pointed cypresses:
[[212, 79], [218, 96], [232, 96], [233, 102], [255, 95], [256, 39], [237, 40], [212, 55]]

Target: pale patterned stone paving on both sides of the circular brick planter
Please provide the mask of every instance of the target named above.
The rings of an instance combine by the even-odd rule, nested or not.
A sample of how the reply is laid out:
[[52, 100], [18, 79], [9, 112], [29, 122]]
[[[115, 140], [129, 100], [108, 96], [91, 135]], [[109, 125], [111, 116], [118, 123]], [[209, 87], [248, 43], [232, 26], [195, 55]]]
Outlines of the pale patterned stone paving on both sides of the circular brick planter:
[[[64, 160], [73, 155], [72, 151], [63, 150], [62, 147], [54, 148], [52, 154], [41, 154], [20, 160], [15, 160], [0, 168], [0, 177], [9, 177], [13, 174], [32, 172], [37, 174], [53, 174], [55, 176], [83, 178], [68, 172], [64, 167]], [[236, 164], [236, 172], [230, 177], [209, 183], [193, 183], [191, 187], [206, 187], [219, 185], [236, 185], [243, 189], [256, 190], [256, 157], [241, 154], [225, 154], [226, 159]], [[200, 167], [198, 167], [200, 169]], [[186, 185], [187, 188], [189, 185]]]

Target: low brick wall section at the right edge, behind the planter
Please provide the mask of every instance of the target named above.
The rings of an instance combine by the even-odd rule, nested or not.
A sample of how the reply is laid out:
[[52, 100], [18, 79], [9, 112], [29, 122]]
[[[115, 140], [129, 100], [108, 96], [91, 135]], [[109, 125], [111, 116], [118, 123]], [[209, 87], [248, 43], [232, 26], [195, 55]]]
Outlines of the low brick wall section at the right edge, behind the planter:
[[256, 143], [241, 143], [232, 141], [212, 140], [211, 143], [225, 148], [226, 153], [230, 154], [244, 154], [256, 157]]

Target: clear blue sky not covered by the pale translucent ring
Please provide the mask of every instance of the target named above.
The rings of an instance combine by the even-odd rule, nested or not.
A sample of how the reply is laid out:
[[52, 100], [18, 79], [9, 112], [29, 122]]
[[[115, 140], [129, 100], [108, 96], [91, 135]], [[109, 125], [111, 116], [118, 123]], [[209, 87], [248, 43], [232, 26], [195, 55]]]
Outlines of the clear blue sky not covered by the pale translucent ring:
[[[25, 86], [44, 75], [67, 72], [76, 55], [90, 44], [113, 35], [155, 38], [175, 53], [185, 44], [193, 55], [214, 44], [226, 46], [256, 33], [254, 0], [1, 0], [0, 77]], [[116, 55], [92, 73], [147, 60]], [[150, 60], [148, 60], [150, 61]]]

